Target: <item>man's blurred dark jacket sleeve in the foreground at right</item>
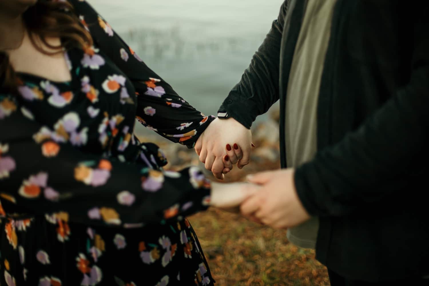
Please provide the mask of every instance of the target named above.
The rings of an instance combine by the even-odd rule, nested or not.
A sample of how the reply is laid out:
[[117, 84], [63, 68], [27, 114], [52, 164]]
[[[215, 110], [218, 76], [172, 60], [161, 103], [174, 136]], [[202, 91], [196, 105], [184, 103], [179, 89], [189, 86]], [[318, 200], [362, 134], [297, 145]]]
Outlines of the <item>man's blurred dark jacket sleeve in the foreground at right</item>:
[[428, 157], [429, 8], [417, 6], [408, 84], [356, 132], [296, 169], [296, 190], [310, 214], [347, 215], [421, 178]]

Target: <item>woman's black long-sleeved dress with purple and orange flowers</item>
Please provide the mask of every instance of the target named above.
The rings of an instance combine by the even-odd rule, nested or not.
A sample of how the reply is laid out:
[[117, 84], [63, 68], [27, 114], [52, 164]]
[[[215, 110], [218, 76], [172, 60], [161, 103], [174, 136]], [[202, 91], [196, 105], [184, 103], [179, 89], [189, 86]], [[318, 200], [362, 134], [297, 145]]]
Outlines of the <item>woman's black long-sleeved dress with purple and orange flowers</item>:
[[212, 285], [185, 218], [207, 208], [210, 184], [196, 167], [164, 171], [133, 127], [191, 148], [213, 117], [70, 3], [94, 39], [64, 51], [72, 80], [18, 73], [19, 94], [0, 93], [0, 284]]

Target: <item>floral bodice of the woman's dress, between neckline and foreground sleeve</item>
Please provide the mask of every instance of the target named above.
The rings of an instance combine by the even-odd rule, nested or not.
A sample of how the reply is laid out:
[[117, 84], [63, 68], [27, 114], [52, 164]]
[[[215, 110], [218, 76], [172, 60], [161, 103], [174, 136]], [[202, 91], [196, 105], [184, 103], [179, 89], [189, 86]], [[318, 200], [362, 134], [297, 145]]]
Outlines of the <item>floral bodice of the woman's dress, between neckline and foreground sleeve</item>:
[[136, 113], [133, 85], [97, 48], [74, 49], [64, 59], [70, 81], [19, 75], [24, 112], [43, 126], [35, 134], [36, 141], [69, 142], [100, 152], [117, 148], [113, 146], [116, 138], [132, 137]]

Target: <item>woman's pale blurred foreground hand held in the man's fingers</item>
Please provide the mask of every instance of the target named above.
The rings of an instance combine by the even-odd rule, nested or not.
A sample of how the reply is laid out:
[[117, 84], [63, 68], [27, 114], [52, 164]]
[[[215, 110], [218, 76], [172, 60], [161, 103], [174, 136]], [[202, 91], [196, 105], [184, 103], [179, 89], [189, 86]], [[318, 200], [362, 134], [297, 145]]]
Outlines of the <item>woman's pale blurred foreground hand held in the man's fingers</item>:
[[260, 190], [260, 186], [250, 183], [211, 183], [210, 205], [224, 210], [237, 209], [249, 197]]

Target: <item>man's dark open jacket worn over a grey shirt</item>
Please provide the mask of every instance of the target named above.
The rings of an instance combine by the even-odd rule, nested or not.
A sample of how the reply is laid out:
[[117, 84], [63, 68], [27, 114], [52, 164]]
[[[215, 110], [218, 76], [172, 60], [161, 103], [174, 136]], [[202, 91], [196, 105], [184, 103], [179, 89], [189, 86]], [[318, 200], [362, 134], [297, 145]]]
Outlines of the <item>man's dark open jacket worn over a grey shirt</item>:
[[[250, 128], [280, 99], [306, 1], [285, 1], [220, 112]], [[350, 279], [429, 273], [429, 1], [338, 0], [317, 107], [318, 153], [296, 169], [320, 217], [317, 259]], [[286, 167], [281, 154], [281, 165]]]

